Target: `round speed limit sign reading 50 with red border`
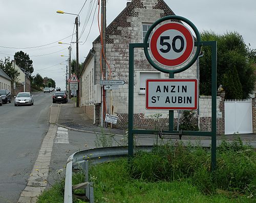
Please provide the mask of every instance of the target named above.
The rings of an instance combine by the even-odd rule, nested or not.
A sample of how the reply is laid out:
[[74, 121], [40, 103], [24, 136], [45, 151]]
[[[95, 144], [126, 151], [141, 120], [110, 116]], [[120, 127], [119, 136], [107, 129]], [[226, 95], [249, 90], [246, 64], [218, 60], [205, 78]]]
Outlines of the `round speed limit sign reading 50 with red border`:
[[164, 66], [179, 66], [185, 63], [194, 49], [194, 37], [181, 23], [163, 24], [150, 39], [150, 52]]

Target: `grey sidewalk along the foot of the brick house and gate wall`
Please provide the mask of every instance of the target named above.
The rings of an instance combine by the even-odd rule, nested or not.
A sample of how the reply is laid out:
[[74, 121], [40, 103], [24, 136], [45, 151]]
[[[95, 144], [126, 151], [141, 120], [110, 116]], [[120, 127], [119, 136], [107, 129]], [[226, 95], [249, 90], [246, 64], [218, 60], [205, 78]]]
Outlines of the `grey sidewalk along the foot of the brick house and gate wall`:
[[[63, 126], [64, 128], [68, 128], [74, 131], [82, 131], [82, 132], [92, 132], [92, 133], [101, 133], [102, 131], [105, 133], [115, 134], [115, 135], [125, 135], [126, 130], [121, 129], [106, 129], [101, 128], [101, 126], [93, 124], [93, 120], [90, 119], [82, 110], [82, 108], [76, 108], [75, 104], [71, 103], [69, 100], [67, 104], [60, 105], [60, 112], [57, 124], [59, 126]], [[155, 135], [140, 135], [141, 137], [154, 137]], [[242, 140], [256, 140], [255, 134], [241, 134], [239, 135]], [[179, 136], [172, 136], [174, 139], [179, 139]], [[226, 138], [227, 140], [237, 139], [237, 135], [225, 135], [225, 136], [217, 136], [217, 140], [222, 138]], [[202, 136], [182, 136], [184, 140], [193, 140], [193, 139], [208, 139], [210, 137], [202, 137]]]

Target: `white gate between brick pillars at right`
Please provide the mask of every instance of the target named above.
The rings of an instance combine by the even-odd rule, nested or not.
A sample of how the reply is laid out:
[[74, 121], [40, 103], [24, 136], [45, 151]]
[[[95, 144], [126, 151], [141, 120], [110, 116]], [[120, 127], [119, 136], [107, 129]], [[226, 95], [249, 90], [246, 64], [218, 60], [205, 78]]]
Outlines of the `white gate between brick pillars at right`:
[[252, 133], [251, 99], [225, 100], [225, 135]]

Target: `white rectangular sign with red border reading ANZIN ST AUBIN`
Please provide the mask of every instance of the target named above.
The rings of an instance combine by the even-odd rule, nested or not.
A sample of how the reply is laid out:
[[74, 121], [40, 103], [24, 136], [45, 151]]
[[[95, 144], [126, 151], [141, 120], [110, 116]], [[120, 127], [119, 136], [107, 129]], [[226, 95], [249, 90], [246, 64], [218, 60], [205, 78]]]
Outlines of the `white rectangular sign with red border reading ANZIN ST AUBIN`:
[[197, 110], [197, 79], [147, 79], [147, 110]]

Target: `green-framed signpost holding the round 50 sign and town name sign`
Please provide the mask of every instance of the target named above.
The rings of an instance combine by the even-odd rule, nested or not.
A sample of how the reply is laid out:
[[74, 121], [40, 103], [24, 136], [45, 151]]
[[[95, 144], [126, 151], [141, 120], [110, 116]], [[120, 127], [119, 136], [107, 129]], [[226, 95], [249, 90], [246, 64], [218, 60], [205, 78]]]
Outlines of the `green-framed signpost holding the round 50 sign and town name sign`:
[[[180, 21], [186, 23], [194, 31], [195, 36], [184, 24], [179, 23]], [[187, 81], [174, 79], [175, 74], [187, 70], [196, 63], [202, 46], [208, 46], [211, 49], [211, 130], [176, 131], [174, 130], [174, 109], [197, 109], [198, 82], [195, 79], [187, 79]], [[179, 135], [180, 138], [182, 135], [209, 136], [211, 138], [211, 170], [214, 171], [217, 147], [217, 42], [201, 41], [198, 29], [191, 21], [181, 16], [170, 15], [152, 24], [145, 35], [144, 43], [129, 44], [128, 154], [130, 157], [134, 155], [135, 134], [158, 135], [160, 133], [159, 130], [134, 128], [135, 48], [143, 48], [147, 61], [155, 69], [169, 74], [170, 81], [151, 79], [147, 80], [146, 85], [146, 108], [169, 110], [168, 130], [162, 130], [161, 134]], [[194, 50], [195, 53], [193, 53]]]

